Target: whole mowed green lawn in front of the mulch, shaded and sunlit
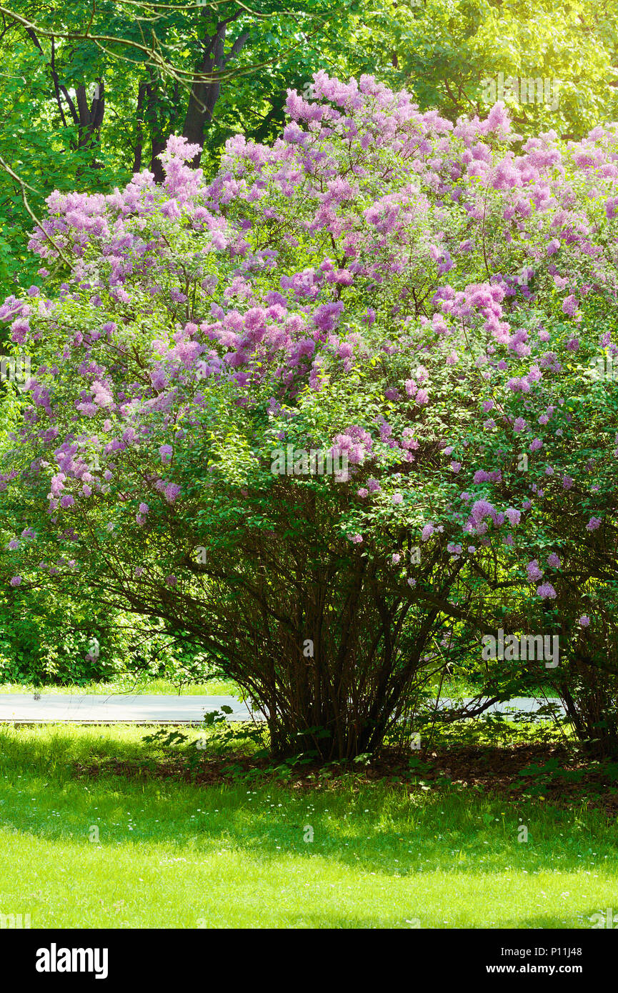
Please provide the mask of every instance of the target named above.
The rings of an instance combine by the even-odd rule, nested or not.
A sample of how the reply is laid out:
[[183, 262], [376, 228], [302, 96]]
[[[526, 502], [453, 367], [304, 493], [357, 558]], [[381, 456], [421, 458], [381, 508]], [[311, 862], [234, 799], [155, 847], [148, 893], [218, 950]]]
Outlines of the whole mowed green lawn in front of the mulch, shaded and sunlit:
[[0, 729], [0, 914], [33, 928], [578, 928], [618, 912], [618, 829], [601, 811], [352, 777], [78, 775], [93, 757], [146, 759], [144, 733]]

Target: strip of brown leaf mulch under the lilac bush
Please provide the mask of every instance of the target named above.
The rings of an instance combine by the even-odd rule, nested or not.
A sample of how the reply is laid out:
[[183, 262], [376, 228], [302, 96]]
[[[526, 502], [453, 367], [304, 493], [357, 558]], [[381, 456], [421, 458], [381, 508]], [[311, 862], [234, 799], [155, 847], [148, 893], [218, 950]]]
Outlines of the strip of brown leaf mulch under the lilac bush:
[[[182, 756], [148, 761], [101, 757], [87, 766], [76, 763], [78, 777], [125, 776], [179, 780], [198, 785], [221, 785], [231, 780], [285, 781], [296, 789], [334, 786], [350, 776], [360, 785], [377, 781], [405, 784], [411, 790], [454, 787], [487, 790], [511, 799], [538, 798], [558, 806], [588, 800], [609, 814], [618, 814], [618, 764], [590, 762], [559, 745], [519, 745], [510, 749], [490, 746], [436, 746], [401, 757], [385, 754], [370, 765], [328, 766], [311, 763], [286, 773], [270, 759], [243, 753], [201, 757], [193, 769]], [[283, 775], [282, 775], [283, 769]]]

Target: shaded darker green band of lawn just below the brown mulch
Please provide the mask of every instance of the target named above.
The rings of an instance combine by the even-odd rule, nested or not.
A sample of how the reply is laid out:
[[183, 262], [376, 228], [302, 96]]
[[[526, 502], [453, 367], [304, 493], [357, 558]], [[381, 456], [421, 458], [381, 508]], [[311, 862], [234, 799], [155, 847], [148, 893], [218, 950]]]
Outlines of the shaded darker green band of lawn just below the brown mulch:
[[[127, 842], [202, 855], [224, 846], [262, 863], [293, 853], [392, 877], [420, 870], [580, 871], [601, 852], [604, 865], [618, 869], [618, 829], [597, 810], [578, 815], [470, 789], [424, 791], [353, 778], [302, 791], [274, 782], [204, 786], [76, 775], [76, 763], [97, 758], [152, 758], [141, 740], [147, 733], [0, 730], [0, 827], [76, 845], [89, 845], [96, 827], [98, 844], [110, 851]], [[522, 822], [530, 832], [525, 845], [518, 843]]]

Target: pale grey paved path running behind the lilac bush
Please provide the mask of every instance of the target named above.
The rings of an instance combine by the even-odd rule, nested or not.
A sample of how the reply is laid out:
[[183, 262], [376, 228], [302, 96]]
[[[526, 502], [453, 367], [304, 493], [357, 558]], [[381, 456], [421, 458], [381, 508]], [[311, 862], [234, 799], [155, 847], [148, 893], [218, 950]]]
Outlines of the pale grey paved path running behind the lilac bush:
[[[469, 703], [470, 698], [464, 699]], [[516, 697], [494, 704], [488, 713], [508, 715], [512, 709], [535, 711], [544, 700]], [[558, 703], [559, 701], [553, 700]], [[454, 705], [440, 700], [440, 707]], [[263, 720], [259, 711], [251, 712], [233, 696], [167, 696], [127, 693], [117, 695], [69, 693], [0, 693], [0, 723], [16, 724], [200, 724], [204, 714], [223, 705], [232, 707], [229, 721]], [[560, 707], [562, 710], [562, 707]]]

